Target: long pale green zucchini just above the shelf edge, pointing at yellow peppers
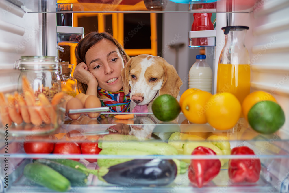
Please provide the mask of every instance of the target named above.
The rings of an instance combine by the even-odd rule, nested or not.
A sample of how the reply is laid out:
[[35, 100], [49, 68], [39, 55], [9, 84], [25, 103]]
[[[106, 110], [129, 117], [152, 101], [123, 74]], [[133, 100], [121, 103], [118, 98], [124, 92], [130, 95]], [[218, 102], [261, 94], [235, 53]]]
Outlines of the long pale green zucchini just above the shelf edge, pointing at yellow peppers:
[[142, 152], [148, 152], [149, 154], [155, 155], [177, 155], [178, 151], [176, 148], [168, 143], [157, 141], [157, 140], [146, 140], [144, 141], [102, 141], [101, 148], [114, 148], [137, 150]]

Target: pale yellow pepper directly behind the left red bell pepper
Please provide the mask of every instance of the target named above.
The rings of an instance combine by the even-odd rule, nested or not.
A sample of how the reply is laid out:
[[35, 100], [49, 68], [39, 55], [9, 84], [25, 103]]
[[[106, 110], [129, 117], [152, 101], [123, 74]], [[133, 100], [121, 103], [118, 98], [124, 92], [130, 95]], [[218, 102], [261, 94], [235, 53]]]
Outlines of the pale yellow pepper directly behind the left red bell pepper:
[[[212, 149], [217, 155], [223, 155], [223, 152], [220, 148], [218, 148], [217, 146], [213, 145], [212, 143], [210, 142], [207, 142], [207, 141], [198, 141], [198, 142], [185, 142], [184, 143], [184, 155], [192, 155], [192, 152], [195, 148], [199, 147], [199, 146], [202, 146], [202, 147], [207, 147], [207, 148], [210, 148]], [[190, 163], [190, 159], [184, 159], [182, 160], [186, 163]], [[224, 165], [224, 160], [223, 159], [220, 159], [221, 161], [221, 166]]]

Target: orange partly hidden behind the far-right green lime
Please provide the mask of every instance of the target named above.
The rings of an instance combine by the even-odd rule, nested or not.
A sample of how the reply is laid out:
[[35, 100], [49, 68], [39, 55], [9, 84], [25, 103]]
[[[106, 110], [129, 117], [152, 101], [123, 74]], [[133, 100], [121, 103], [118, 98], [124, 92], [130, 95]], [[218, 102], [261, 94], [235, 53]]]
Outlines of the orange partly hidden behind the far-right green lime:
[[254, 104], [256, 104], [257, 102], [263, 100], [271, 100], [277, 103], [276, 99], [270, 93], [266, 93], [264, 91], [255, 91], [246, 96], [246, 98], [242, 103], [242, 113], [247, 121], [248, 121], [248, 112], [250, 111], [252, 106], [254, 106]]

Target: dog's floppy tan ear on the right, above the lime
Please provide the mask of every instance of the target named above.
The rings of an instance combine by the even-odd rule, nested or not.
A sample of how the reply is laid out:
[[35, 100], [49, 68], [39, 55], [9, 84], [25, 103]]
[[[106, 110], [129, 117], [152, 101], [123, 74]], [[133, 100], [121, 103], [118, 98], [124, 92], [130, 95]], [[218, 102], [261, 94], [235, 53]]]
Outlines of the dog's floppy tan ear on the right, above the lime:
[[173, 65], [170, 65], [166, 60], [164, 60], [163, 64], [164, 82], [160, 88], [160, 95], [169, 94], [177, 98], [183, 82]]

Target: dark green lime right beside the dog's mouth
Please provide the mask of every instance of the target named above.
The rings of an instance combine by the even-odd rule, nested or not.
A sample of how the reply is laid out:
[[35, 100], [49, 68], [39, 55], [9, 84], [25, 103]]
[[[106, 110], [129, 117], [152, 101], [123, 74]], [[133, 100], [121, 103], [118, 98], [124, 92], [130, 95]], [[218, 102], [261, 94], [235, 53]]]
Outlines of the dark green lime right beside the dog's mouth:
[[161, 121], [172, 121], [177, 118], [181, 112], [181, 107], [177, 99], [168, 94], [158, 96], [153, 101], [151, 108], [155, 117]]

